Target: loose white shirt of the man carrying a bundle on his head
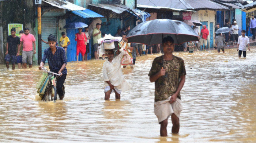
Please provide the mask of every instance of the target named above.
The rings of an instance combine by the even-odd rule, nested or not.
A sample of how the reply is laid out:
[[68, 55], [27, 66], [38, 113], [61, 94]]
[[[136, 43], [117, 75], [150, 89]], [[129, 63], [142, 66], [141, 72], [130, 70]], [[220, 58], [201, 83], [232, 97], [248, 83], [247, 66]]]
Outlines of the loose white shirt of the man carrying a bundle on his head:
[[112, 59], [112, 62], [108, 60], [103, 63], [103, 78], [104, 85], [103, 88], [109, 86], [106, 81], [110, 81], [110, 83], [115, 86], [118, 90], [126, 91], [132, 87], [123, 76], [121, 70], [121, 59], [124, 56], [124, 49], [121, 48], [119, 50], [121, 53]]

